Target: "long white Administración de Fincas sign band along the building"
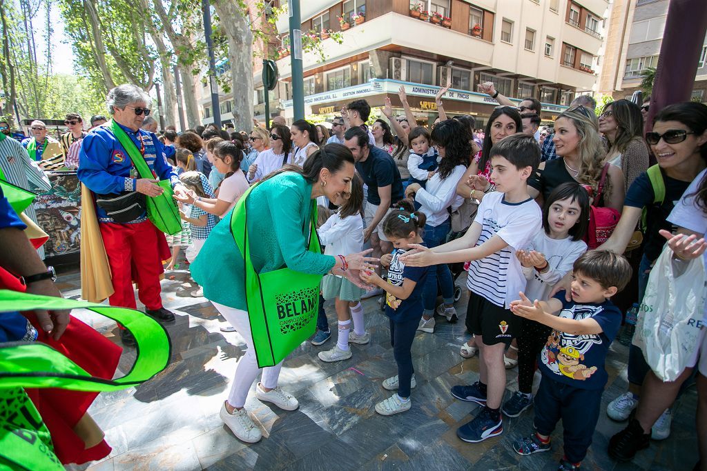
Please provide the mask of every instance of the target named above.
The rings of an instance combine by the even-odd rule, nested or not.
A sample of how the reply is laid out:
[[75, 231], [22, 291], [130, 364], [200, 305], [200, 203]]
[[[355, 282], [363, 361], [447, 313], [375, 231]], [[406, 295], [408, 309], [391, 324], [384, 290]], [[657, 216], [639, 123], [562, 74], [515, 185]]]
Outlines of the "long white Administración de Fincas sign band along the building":
[[[392, 80], [391, 78], [383, 78], [375, 79], [361, 85], [339, 88], [339, 90], [308, 95], [305, 97], [305, 105], [311, 106], [329, 102], [356, 100], [357, 98], [368, 97], [370, 95], [380, 95], [381, 93], [397, 94], [400, 85], [405, 87], [405, 93], [410, 96], [434, 97], [440, 90], [440, 87], [433, 85], [420, 85], [419, 83], [410, 83]], [[489, 95], [486, 95], [485, 93], [469, 92], [465, 90], [449, 90], [444, 96], [444, 100], [481, 103], [484, 105], [498, 105], [496, 100], [493, 100], [493, 98], [489, 97]], [[517, 98], [510, 98], [510, 100], [516, 104], [520, 103], [520, 100]], [[284, 105], [286, 108], [291, 108], [292, 100], [287, 100]], [[542, 109], [547, 112], [561, 113], [567, 109], [567, 107], [543, 103]]]

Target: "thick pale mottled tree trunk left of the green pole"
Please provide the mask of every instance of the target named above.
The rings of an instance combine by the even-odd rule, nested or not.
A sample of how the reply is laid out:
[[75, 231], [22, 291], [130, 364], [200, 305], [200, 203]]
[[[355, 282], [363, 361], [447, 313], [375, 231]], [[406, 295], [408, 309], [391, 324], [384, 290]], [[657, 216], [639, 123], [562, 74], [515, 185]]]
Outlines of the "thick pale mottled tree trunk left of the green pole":
[[214, 0], [211, 4], [228, 38], [235, 129], [247, 131], [253, 126], [253, 35], [248, 13], [233, 0]]

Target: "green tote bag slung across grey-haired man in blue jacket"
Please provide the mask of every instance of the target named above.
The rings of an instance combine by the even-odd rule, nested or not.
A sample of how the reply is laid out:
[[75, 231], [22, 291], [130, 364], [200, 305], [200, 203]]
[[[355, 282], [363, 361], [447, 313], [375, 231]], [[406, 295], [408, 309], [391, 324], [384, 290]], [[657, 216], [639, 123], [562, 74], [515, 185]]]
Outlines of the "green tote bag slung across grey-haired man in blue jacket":
[[[130, 156], [130, 160], [132, 160], [135, 169], [140, 174], [140, 178], [154, 179], [155, 177], [150, 171], [150, 167], [147, 165], [147, 162], [145, 162], [145, 158], [140, 153], [140, 150], [133, 141], [130, 140], [125, 131], [112, 119], [110, 120], [110, 130], [113, 131], [120, 145], [123, 146]], [[172, 189], [172, 183], [169, 180], [160, 180], [157, 184], [161, 186], [164, 191], [159, 196], [148, 196], [146, 198], [147, 217], [152, 221], [155, 227], [165, 234], [177, 234], [177, 232], [182, 230], [182, 220], [179, 215], [179, 208], [177, 208], [177, 202], [175, 198], [173, 198], [174, 190]]]

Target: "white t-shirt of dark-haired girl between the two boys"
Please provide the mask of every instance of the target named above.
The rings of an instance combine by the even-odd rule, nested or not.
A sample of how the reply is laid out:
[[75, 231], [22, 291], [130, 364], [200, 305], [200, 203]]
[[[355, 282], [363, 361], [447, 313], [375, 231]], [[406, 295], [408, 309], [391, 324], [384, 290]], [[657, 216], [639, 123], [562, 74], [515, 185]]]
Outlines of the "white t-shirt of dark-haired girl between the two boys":
[[531, 301], [535, 299], [547, 301], [555, 283], [571, 271], [575, 260], [587, 251], [587, 244], [581, 240], [573, 241], [572, 237], [551, 239], [541, 229], [535, 234], [526, 249], [543, 254], [545, 260], [549, 263], [549, 267], [545, 273], [540, 273], [533, 267], [526, 268], [521, 266], [523, 275], [525, 275], [527, 280], [525, 295]]

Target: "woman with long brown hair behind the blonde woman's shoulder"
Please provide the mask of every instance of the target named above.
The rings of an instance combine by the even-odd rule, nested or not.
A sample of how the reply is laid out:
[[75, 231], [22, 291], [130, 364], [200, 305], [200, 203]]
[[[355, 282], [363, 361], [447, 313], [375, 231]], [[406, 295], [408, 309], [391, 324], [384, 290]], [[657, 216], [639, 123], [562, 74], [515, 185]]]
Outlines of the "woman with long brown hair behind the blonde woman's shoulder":
[[648, 146], [643, 141], [641, 108], [629, 100], [607, 103], [599, 115], [599, 132], [609, 141], [609, 153], [604, 162], [624, 172], [624, 186], [648, 169]]

